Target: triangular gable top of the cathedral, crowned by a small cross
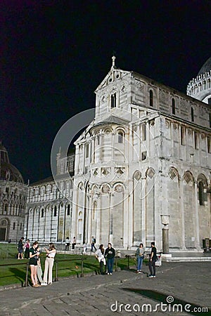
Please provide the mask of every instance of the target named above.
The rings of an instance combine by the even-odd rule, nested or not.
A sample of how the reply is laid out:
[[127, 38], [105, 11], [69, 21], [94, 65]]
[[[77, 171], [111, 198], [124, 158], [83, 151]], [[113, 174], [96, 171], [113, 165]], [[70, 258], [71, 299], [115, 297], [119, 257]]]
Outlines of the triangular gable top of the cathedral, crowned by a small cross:
[[[114, 58], [114, 57], [113, 57]], [[115, 58], [114, 58], [115, 60]], [[126, 70], [121, 70], [115, 66], [113, 60], [113, 65], [110, 68], [110, 72], [108, 72], [107, 76], [103, 79], [101, 84], [96, 88], [97, 92], [98, 90], [101, 90], [101, 88], [105, 88], [106, 86], [109, 86], [110, 84], [113, 84], [115, 81], [122, 79], [124, 76], [131, 72], [127, 72]]]

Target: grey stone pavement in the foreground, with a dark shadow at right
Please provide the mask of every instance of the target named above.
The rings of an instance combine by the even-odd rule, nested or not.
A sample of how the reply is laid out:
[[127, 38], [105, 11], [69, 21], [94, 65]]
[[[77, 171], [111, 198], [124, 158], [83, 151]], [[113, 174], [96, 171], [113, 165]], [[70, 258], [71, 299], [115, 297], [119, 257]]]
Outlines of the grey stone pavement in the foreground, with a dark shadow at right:
[[59, 279], [47, 287], [1, 289], [0, 315], [155, 315], [156, 304], [156, 315], [202, 315], [203, 307], [209, 308], [204, 315], [211, 315], [210, 294], [209, 262], [163, 263], [156, 278], [124, 270]]

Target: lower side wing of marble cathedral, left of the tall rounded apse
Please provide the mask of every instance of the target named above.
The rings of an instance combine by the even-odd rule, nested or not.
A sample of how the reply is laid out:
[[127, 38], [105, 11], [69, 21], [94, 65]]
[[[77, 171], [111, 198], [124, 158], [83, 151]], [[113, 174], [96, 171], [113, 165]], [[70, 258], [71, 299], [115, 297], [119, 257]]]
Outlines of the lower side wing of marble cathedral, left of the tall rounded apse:
[[43, 242], [70, 237], [75, 154], [57, 157], [57, 176], [32, 183], [27, 192], [25, 236]]

